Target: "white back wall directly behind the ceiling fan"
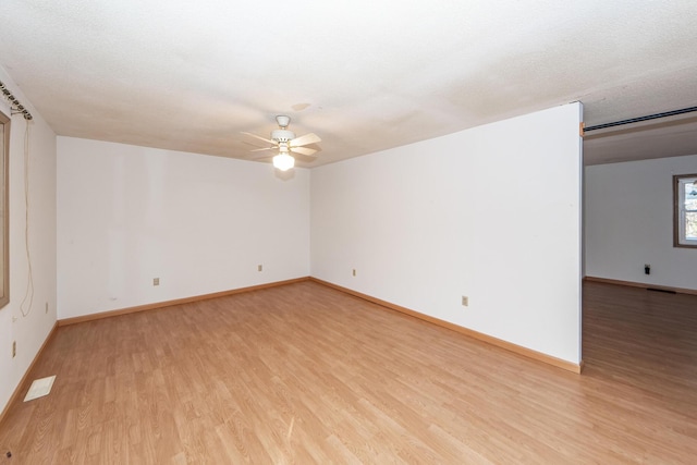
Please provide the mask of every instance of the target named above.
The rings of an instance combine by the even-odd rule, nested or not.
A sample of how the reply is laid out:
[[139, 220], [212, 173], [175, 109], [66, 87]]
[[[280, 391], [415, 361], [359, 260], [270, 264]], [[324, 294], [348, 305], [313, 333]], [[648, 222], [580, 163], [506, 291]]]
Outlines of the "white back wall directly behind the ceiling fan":
[[309, 274], [304, 169], [59, 137], [58, 218], [59, 319]]

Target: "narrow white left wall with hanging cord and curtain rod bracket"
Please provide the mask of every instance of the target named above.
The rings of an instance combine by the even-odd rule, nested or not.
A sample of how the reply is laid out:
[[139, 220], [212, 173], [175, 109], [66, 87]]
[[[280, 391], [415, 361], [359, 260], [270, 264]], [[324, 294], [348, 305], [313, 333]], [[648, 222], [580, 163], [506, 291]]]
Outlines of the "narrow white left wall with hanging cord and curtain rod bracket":
[[[2, 68], [0, 68], [0, 81], [34, 115], [34, 120], [29, 122], [28, 144], [28, 248], [32, 259], [33, 293], [28, 287], [25, 241], [26, 121], [21, 115], [14, 115], [11, 122], [10, 303], [0, 309], [0, 412], [2, 412], [56, 322], [56, 134]], [[1, 99], [0, 107], [7, 112], [5, 102]], [[28, 294], [27, 289], [29, 289]], [[17, 347], [14, 358], [12, 358], [13, 341], [16, 341]]]

